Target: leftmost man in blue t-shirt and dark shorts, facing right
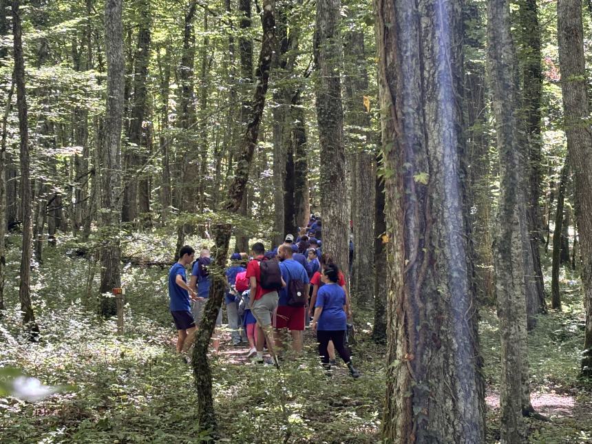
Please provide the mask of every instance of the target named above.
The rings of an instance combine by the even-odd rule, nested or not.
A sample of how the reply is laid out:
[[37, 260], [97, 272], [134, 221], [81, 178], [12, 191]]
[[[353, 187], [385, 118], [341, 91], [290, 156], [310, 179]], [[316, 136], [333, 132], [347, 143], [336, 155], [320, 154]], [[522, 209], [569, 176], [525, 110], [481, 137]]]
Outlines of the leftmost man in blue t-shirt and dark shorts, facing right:
[[[197, 294], [189, 285], [185, 275], [185, 267], [191, 264], [195, 250], [184, 245], [179, 251], [179, 260], [169, 270], [169, 308], [177, 328], [177, 352], [187, 351], [193, 343], [195, 321], [191, 314], [189, 299], [195, 300]], [[189, 337], [189, 339], [187, 339]]]

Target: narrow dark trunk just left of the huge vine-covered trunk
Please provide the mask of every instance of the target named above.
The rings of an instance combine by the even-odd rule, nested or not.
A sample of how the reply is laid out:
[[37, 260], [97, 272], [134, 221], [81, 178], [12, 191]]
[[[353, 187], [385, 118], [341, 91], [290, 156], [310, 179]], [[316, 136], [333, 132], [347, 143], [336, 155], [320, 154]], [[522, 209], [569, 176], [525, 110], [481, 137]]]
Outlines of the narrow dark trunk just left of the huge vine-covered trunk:
[[[377, 167], [378, 167], [377, 158]], [[374, 326], [372, 339], [376, 343], [386, 342], [386, 302], [388, 286], [385, 270], [386, 262], [385, 235], [386, 223], [384, 219], [384, 179], [377, 173], [374, 180]]]

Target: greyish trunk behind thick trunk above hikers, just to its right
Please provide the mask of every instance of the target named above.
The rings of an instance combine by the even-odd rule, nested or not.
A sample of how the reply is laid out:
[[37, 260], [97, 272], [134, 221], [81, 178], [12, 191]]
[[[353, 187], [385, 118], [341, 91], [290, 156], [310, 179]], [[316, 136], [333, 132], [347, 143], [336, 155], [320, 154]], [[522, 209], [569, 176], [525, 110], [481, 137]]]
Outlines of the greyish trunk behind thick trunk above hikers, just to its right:
[[[353, 151], [352, 221], [356, 246], [351, 277], [352, 299], [360, 306], [372, 302], [374, 288], [374, 158], [370, 140], [370, 109], [363, 104], [368, 96], [368, 72], [364, 34], [346, 33], [343, 54], [346, 59], [346, 122], [350, 126], [349, 149]], [[355, 185], [354, 185], [355, 184]]]

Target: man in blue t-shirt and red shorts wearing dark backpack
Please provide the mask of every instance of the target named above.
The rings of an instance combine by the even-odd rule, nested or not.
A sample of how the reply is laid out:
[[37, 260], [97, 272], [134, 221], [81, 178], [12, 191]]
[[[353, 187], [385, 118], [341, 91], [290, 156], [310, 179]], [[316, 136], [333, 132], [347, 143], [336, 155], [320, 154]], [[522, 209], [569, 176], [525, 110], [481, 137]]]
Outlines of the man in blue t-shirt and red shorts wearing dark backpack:
[[304, 316], [308, 299], [308, 273], [304, 266], [293, 259], [291, 245], [279, 246], [279, 269], [286, 286], [279, 290], [279, 299], [273, 326], [276, 329], [276, 348], [283, 348], [279, 330], [288, 329], [292, 335], [292, 348], [302, 352], [302, 332], [304, 332]]

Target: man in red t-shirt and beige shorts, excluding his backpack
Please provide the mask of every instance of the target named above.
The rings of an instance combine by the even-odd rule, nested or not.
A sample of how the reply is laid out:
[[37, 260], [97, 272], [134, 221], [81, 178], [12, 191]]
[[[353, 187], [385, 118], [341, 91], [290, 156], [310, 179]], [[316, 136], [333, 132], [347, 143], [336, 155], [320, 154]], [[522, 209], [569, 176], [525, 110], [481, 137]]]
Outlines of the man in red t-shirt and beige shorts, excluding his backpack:
[[[263, 343], [267, 336], [267, 347], [273, 352], [273, 328], [271, 328], [271, 319], [277, 308], [277, 299], [279, 295], [277, 290], [269, 290], [261, 286], [261, 268], [259, 262], [263, 260], [265, 246], [261, 242], [253, 244], [253, 260], [246, 266], [246, 278], [249, 279], [251, 286], [251, 313], [257, 319], [255, 328], [255, 348], [257, 348], [257, 357], [255, 362], [263, 362]], [[283, 284], [283, 282], [282, 282]], [[285, 285], [285, 284], [284, 284]]]

